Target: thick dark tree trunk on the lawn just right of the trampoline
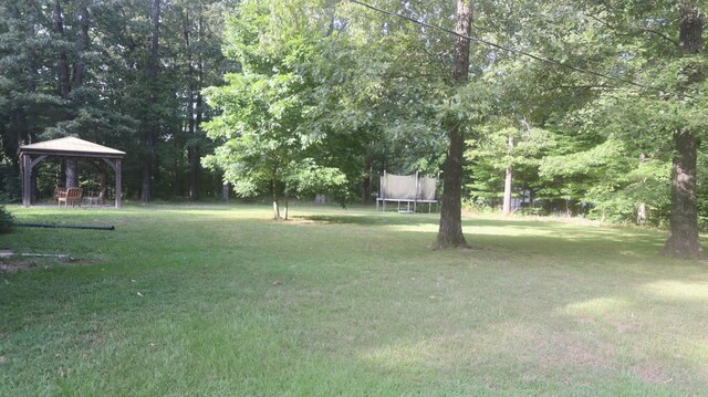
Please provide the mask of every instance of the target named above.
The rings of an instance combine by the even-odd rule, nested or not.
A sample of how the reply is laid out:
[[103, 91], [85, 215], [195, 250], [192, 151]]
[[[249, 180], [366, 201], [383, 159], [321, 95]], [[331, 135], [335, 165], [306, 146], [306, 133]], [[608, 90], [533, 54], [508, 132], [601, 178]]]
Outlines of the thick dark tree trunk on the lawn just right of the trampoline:
[[[457, 0], [457, 24], [455, 32], [469, 36], [473, 9], [471, 0]], [[469, 73], [469, 39], [457, 36], [452, 63], [452, 82], [459, 86], [467, 82]], [[445, 174], [442, 176], [442, 208], [437, 248], [466, 247], [462, 234], [462, 154], [465, 152], [465, 128], [459, 123], [449, 127], [450, 139]]]

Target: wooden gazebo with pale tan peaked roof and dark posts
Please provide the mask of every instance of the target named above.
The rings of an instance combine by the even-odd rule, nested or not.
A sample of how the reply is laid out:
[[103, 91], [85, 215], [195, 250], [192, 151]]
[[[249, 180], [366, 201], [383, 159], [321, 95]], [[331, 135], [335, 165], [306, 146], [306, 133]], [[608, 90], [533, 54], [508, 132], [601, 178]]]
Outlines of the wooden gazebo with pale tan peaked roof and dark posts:
[[74, 137], [65, 137], [20, 146], [23, 207], [30, 207], [32, 203], [32, 168], [50, 156], [102, 159], [106, 161], [115, 171], [115, 208], [121, 208], [121, 160], [123, 159], [123, 156], [125, 156], [125, 152]]

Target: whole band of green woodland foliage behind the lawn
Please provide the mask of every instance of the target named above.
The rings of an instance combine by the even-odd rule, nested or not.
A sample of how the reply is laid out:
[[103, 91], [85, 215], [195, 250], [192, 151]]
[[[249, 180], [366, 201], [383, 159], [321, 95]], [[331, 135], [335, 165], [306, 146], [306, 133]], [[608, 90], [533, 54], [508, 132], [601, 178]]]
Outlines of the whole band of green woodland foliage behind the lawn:
[[[371, 3], [455, 29], [451, 0]], [[471, 4], [459, 85], [452, 34], [357, 2], [0, 0], [0, 197], [20, 197], [19, 146], [77, 136], [127, 153], [127, 199], [218, 198], [227, 180], [367, 202], [384, 170], [440, 173], [459, 128], [467, 206], [501, 208], [507, 182], [507, 210], [633, 223], [668, 224], [693, 145], [708, 226], [702, 2]], [[38, 167], [38, 198], [67, 167]]]

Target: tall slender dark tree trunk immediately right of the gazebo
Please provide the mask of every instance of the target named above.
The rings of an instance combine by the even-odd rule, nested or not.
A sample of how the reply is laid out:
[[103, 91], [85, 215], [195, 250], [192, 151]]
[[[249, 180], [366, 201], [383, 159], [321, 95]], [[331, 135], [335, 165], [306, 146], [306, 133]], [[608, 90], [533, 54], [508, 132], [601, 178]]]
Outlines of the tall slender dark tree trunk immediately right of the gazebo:
[[[156, 111], [157, 105], [157, 76], [158, 76], [158, 63], [159, 63], [159, 14], [160, 14], [160, 0], [153, 0], [153, 9], [150, 12], [150, 22], [153, 24], [153, 32], [150, 38], [150, 52], [148, 60], [148, 81], [150, 84], [150, 104], [153, 109]], [[146, 139], [145, 139], [145, 164], [143, 165], [143, 191], [140, 199], [143, 202], [149, 202], [153, 199], [153, 179], [156, 170], [156, 155], [155, 146], [157, 145], [157, 135], [159, 126], [156, 121], [157, 117], [150, 118], [147, 122]]]

